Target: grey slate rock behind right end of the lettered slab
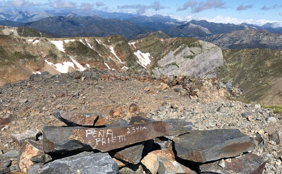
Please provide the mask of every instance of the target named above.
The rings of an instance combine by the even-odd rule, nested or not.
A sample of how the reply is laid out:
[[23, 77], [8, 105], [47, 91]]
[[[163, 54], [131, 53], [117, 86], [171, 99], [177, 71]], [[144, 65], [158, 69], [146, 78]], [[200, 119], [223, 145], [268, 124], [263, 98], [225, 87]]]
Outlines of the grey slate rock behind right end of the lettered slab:
[[169, 135], [168, 136], [179, 136], [185, 133], [189, 133], [192, 130], [193, 123], [183, 119], [172, 118], [164, 120], [169, 123]]

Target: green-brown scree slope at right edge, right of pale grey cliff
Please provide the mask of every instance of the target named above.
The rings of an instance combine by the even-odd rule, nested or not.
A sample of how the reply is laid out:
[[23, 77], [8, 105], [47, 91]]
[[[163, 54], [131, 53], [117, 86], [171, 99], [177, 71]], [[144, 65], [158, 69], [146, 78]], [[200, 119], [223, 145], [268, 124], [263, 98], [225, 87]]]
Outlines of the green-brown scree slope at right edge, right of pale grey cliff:
[[223, 57], [224, 64], [211, 74], [243, 89], [252, 101], [282, 104], [280, 50], [223, 50]]

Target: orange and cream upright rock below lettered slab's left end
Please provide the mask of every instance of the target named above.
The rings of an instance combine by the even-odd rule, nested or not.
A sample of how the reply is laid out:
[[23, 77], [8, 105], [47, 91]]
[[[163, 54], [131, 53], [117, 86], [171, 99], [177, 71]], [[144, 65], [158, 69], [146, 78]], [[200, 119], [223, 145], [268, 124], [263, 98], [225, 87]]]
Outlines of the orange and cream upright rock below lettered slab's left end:
[[21, 146], [19, 152], [19, 169], [23, 173], [27, 173], [30, 166], [33, 164], [31, 157], [43, 152], [43, 146], [33, 140], [26, 140]]

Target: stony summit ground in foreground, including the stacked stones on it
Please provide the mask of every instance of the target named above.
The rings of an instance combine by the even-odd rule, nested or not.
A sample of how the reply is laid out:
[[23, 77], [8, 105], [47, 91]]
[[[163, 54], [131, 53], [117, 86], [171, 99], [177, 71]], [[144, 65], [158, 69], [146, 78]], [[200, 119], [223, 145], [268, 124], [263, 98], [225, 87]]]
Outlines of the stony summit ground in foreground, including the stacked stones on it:
[[242, 94], [207, 76], [33, 75], [0, 87], [0, 173], [279, 174], [282, 116]]

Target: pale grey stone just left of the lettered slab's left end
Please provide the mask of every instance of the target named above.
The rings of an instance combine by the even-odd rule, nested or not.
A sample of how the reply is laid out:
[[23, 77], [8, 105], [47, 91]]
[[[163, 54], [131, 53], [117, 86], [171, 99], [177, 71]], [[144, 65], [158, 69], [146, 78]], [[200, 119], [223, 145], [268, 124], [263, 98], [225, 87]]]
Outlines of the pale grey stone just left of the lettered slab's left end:
[[36, 137], [38, 137], [40, 135], [39, 131], [32, 131], [32, 130], [27, 130], [23, 133], [20, 134], [12, 134], [11, 137], [13, 138], [13, 140], [18, 144], [18, 145], [22, 145], [23, 142], [25, 140], [36, 140]]

